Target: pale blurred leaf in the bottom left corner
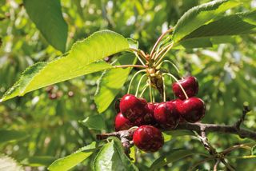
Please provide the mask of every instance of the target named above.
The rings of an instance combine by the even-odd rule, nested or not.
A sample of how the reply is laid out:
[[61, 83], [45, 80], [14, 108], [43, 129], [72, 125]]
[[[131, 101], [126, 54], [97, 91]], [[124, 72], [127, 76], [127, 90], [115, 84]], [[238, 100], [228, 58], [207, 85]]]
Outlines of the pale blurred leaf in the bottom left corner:
[[13, 158], [0, 154], [0, 171], [23, 171], [21, 165]]

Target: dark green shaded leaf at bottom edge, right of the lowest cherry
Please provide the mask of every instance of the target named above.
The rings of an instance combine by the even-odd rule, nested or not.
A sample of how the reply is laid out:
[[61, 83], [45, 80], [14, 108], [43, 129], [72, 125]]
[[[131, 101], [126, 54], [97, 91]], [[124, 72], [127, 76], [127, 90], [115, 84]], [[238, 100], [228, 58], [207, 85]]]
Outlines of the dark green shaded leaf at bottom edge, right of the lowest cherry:
[[166, 155], [163, 155], [162, 157], [159, 157], [157, 160], [155, 160], [152, 165], [150, 166], [150, 170], [161, 168], [164, 165], [167, 165], [169, 163], [172, 163], [174, 161], [178, 161], [184, 157], [188, 157], [193, 155], [194, 153], [187, 149], [177, 150], [170, 152]]

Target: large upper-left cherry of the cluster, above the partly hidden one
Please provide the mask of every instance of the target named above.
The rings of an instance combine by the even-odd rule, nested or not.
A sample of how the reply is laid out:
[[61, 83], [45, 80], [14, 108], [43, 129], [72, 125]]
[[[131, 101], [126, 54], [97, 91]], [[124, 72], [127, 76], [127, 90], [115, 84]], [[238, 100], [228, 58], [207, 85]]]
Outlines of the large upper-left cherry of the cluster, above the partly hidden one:
[[146, 113], [146, 100], [137, 98], [132, 94], [126, 94], [120, 101], [120, 112], [130, 121], [135, 121]]

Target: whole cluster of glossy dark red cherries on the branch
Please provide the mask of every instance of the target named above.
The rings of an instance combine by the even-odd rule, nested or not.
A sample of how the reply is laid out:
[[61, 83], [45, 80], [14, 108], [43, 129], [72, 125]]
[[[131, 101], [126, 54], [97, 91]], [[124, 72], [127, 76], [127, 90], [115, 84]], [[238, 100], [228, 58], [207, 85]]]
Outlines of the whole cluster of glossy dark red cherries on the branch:
[[115, 117], [115, 130], [138, 126], [133, 134], [134, 145], [153, 153], [164, 143], [159, 129], [175, 129], [179, 122], [200, 121], [206, 108], [200, 98], [194, 97], [198, 93], [197, 79], [191, 76], [184, 78], [174, 82], [172, 89], [178, 99], [161, 103], [148, 103], [132, 94], [123, 96], [119, 104], [120, 113]]

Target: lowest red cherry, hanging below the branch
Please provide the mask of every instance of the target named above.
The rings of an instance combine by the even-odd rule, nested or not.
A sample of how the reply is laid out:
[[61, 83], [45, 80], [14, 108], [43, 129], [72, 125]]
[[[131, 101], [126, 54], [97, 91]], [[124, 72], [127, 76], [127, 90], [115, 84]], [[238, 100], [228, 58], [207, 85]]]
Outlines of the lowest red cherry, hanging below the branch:
[[134, 145], [147, 153], [154, 153], [161, 149], [164, 140], [159, 129], [151, 125], [142, 125], [134, 131]]

